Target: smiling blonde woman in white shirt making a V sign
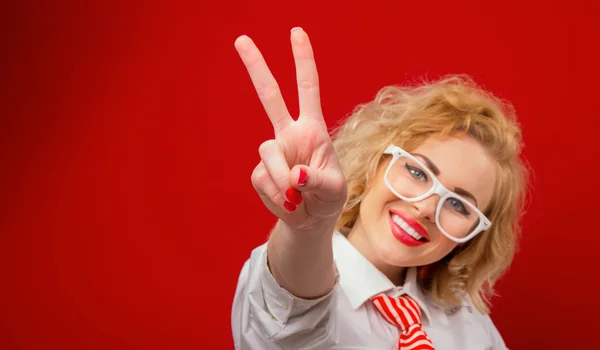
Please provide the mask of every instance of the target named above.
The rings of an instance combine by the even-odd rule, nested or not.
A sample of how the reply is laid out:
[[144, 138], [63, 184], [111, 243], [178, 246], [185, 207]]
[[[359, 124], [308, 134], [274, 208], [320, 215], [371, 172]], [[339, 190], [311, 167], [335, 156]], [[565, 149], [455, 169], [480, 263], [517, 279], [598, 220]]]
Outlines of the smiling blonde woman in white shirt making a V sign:
[[252, 182], [279, 218], [239, 278], [236, 348], [506, 348], [488, 298], [526, 184], [511, 108], [460, 76], [387, 87], [332, 141], [308, 36], [291, 41], [297, 120], [253, 42], [235, 44], [275, 129]]

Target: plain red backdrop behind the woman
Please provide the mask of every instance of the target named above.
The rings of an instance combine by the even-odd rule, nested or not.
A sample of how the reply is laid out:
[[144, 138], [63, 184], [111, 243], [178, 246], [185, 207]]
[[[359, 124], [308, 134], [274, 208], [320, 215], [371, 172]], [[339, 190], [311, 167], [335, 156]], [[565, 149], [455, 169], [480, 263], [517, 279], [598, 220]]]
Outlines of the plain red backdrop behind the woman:
[[535, 182], [493, 318], [514, 349], [593, 342], [597, 2], [1, 6], [0, 348], [233, 348], [237, 276], [274, 220], [250, 183], [272, 129], [233, 42], [255, 39], [297, 111], [293, 26], [330, 125], [446, 73], [514, 103]]

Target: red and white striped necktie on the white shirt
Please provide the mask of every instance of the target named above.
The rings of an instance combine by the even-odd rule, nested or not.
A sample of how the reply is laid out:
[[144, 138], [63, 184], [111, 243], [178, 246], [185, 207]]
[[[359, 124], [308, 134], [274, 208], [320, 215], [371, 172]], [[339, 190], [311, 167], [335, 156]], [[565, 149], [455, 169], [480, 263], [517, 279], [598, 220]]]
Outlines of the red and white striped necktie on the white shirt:
[[382, 293], [371, 301], [383, 318], [402, 331], [398, 349], [434, 350], [433, 343], [421, 327], [421, 308], [413, 298], [408, 295], [389, 297]]

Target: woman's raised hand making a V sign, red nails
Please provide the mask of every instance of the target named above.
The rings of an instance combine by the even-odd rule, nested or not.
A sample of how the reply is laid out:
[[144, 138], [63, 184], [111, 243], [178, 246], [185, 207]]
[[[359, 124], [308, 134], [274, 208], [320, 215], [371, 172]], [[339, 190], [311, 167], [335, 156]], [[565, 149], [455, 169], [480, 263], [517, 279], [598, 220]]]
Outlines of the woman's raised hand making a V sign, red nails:
[[301, 28], [294, 28], [291, 42], [300, 105], [296, 120], [254, 42], [241, 36], [235, 47], [275, 131], [275, 138], [259, 147], [254, 188], [290, 228], [311, 230], [323, 221], [337, 220], [346, 201], [346, 180], [323, 119], [310, 40]]

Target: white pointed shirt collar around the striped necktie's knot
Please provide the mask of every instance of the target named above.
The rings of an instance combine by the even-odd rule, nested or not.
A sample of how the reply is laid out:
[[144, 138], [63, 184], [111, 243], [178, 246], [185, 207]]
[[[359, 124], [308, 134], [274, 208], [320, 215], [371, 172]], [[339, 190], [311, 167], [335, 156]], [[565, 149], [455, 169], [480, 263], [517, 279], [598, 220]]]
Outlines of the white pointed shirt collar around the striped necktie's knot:
[[[333, 235], [333, 256], [340, 275], [340, 286], [348, 296], [353, 310], [377, 294], [393, 292], [397, 288], [379, 269], [364, 257], [340, 232]], [[425, 295], [417, 282], [417, 269], [411, 267], [406, 272], [400, 294], [408, 294], [423, 310], [431, 326], [431, 316], [425, 303]]]

